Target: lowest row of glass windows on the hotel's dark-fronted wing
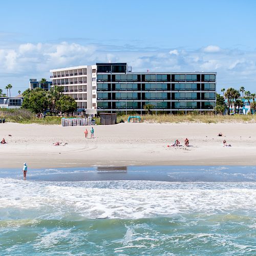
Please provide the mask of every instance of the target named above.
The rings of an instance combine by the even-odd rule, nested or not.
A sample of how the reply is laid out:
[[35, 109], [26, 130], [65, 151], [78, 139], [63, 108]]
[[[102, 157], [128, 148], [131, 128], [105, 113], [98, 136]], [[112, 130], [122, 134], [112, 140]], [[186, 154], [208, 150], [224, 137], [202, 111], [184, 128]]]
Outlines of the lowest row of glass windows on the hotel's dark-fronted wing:
[[[172, 105], [170, 105], [169, 102], [158, 102], [158, 101], [147, 101], [144, 102], [144, 104], [150, 104], [153, 105], [152, 109], [214, 109], [215, 102], [202, 102], [200, 106], [200, 102], [196, 101], [178, 101], [173, 102]], [[125, 102], [125, 101], [118, 101], [115, 102], [114, 105], [110, 105], [108, 102], [98, 102], [97, 105], [98, 109], [140, 109], [141, 104], [139, 102]], [[143, 108], [143, 107], [142, 107]]]

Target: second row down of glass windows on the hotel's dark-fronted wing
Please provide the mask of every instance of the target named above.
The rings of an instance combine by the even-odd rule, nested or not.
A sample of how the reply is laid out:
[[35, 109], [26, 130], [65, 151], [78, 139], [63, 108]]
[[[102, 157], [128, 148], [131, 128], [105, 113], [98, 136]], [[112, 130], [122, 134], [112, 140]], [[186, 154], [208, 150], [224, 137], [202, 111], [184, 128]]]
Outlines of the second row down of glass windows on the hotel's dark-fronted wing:
[[[145, 83], [143, 91], [170, 91], [167, 83]], [[140, 90], [141, 85], [138, 83], [115, 83], [112, 84], [113, 91], [137, 91]], [[98, 91], [110, 91], [108, 83], [98, 83]], [[200, 91], [200, 84], [197, 83], [175, 83], [175, 91]], [[204, 83], [204, 90], [215, 91], [215, 83]]]

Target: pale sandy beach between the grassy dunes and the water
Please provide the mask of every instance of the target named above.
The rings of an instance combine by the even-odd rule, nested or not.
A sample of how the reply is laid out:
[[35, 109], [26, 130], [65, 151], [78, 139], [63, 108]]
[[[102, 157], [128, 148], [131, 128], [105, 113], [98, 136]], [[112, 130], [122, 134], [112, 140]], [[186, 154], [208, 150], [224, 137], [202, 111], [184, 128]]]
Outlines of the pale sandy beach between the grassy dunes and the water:
[[[0, 168], [92, 165], [256, 165], [256, 123], [120, 123], [91, 126], [0, 124]], [[218, 133], [225, 137], [218, 137]], [[9, 137], [8, 134], [12, 136]], [[175, 139], [189, 147], [167, 147]], [[223, 147], [223, 139], [231, 147]], [[66, 146], [53, 143], [67, 142]]]

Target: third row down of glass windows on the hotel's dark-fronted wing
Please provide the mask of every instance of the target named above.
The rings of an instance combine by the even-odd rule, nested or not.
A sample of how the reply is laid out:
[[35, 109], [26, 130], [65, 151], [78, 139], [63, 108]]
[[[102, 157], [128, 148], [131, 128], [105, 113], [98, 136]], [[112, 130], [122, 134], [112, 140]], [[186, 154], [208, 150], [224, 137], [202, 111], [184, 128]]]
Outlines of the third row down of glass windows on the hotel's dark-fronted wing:
[[[143, 93], [142, 94], [143, 99], [170, 99], [168, 98], [167, 93]], [[173, 93], [172, 99], [200, 99], [200, 96], [202, 99], [215, 99], [216, 94], [214, 92], [210, 93]], [[141, 95], [139, 93], [113, 93], [112, 98], [111, 94], [109, 93], [98, 93], [97, 99], [98, 100], [109, 100], [109, 99], [140, 99]]]

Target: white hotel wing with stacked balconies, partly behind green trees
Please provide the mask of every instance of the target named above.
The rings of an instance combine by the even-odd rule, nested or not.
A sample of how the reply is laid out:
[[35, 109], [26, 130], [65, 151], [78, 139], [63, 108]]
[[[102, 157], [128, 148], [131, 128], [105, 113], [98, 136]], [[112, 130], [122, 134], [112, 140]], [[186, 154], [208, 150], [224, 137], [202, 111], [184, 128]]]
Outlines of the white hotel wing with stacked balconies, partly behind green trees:
[[97, 66], [77, 66], [50, 70], [52, 86], [62, 86], [64, 94], [73, 97], [78, 111], [97, 112]]

